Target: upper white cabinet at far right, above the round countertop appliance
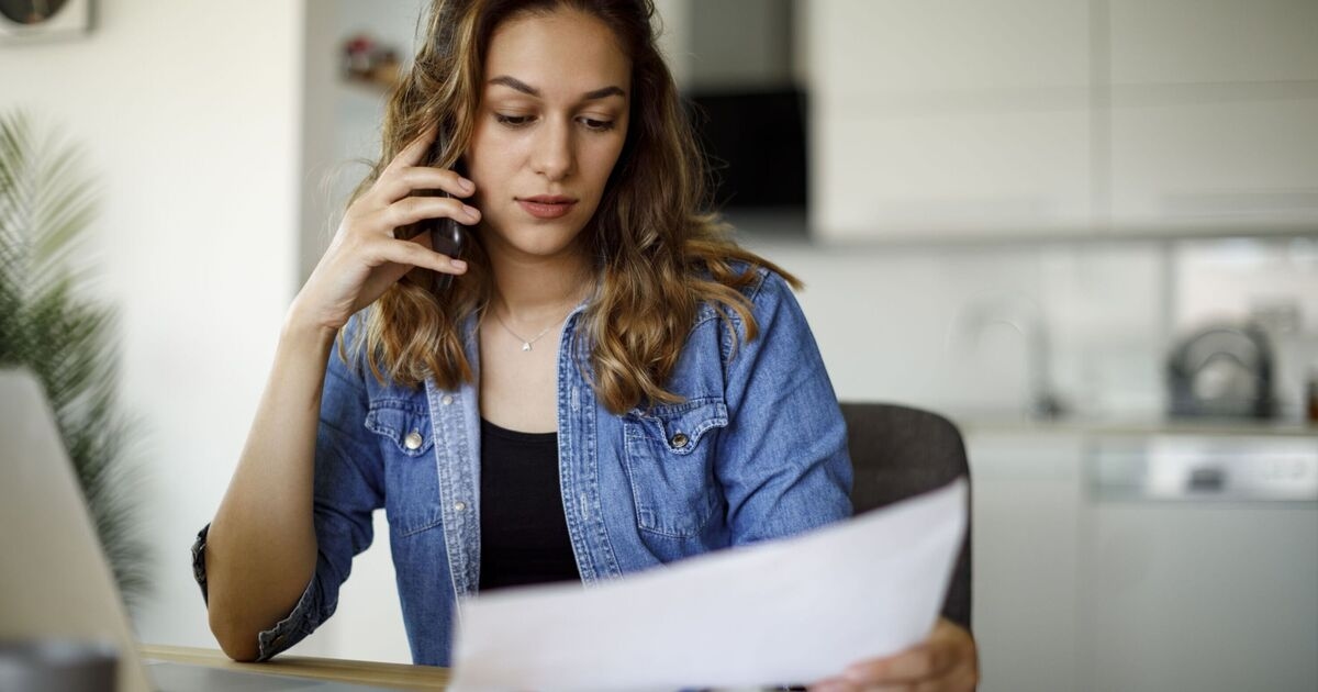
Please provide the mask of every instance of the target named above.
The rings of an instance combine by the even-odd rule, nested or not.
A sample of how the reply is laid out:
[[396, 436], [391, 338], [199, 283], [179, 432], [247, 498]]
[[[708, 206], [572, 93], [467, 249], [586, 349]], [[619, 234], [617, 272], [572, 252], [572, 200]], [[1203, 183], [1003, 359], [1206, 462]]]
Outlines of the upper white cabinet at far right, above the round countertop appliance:
[[1318, 4], [1111, 0], [1108, 12], [1112, 227], [1318, 229]]

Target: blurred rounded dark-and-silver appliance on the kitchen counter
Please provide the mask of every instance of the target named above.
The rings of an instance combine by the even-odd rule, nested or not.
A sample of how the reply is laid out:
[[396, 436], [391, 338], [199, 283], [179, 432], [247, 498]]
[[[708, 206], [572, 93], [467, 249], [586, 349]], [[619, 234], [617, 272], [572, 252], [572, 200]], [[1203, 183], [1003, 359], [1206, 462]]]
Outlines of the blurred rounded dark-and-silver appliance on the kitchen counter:
[[1271, 418], [1273, 357], [1253, 323], [1213, 324], [1184, 337], [1166, 364], [1170, 415]]

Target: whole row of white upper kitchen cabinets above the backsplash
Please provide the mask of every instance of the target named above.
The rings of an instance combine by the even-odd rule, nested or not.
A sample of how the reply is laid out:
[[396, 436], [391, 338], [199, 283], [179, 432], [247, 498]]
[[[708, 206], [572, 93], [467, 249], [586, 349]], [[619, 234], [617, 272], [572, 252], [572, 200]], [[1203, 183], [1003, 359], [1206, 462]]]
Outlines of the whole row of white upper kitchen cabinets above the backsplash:
[[825, 241], [1318, 229], [1318, 3], [803, 3]]

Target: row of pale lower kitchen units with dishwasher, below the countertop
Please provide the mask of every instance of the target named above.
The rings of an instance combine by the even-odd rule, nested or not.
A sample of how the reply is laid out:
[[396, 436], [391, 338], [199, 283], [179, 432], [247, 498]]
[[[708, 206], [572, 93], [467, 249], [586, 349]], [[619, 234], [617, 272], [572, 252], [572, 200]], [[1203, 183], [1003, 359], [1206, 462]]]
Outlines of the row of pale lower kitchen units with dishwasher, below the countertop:
[[961, 423], [983, 692], [1314, 689], [1309, 428]]

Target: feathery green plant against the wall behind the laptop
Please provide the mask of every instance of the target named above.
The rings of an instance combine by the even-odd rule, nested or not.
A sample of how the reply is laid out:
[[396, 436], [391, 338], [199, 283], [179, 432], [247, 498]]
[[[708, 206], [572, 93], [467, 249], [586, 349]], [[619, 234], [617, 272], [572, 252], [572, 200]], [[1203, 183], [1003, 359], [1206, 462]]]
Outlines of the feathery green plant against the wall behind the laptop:
[[133, 424], [116, 409], [115, 314], [79, 293], [72, 253], [95, 214], [79, 152], [38, 140], [22, 113], [0, 116], [0, 368], [45, 386], [101, 546], [128, 604], [145, 596], [140, 476], [125, 459]]

